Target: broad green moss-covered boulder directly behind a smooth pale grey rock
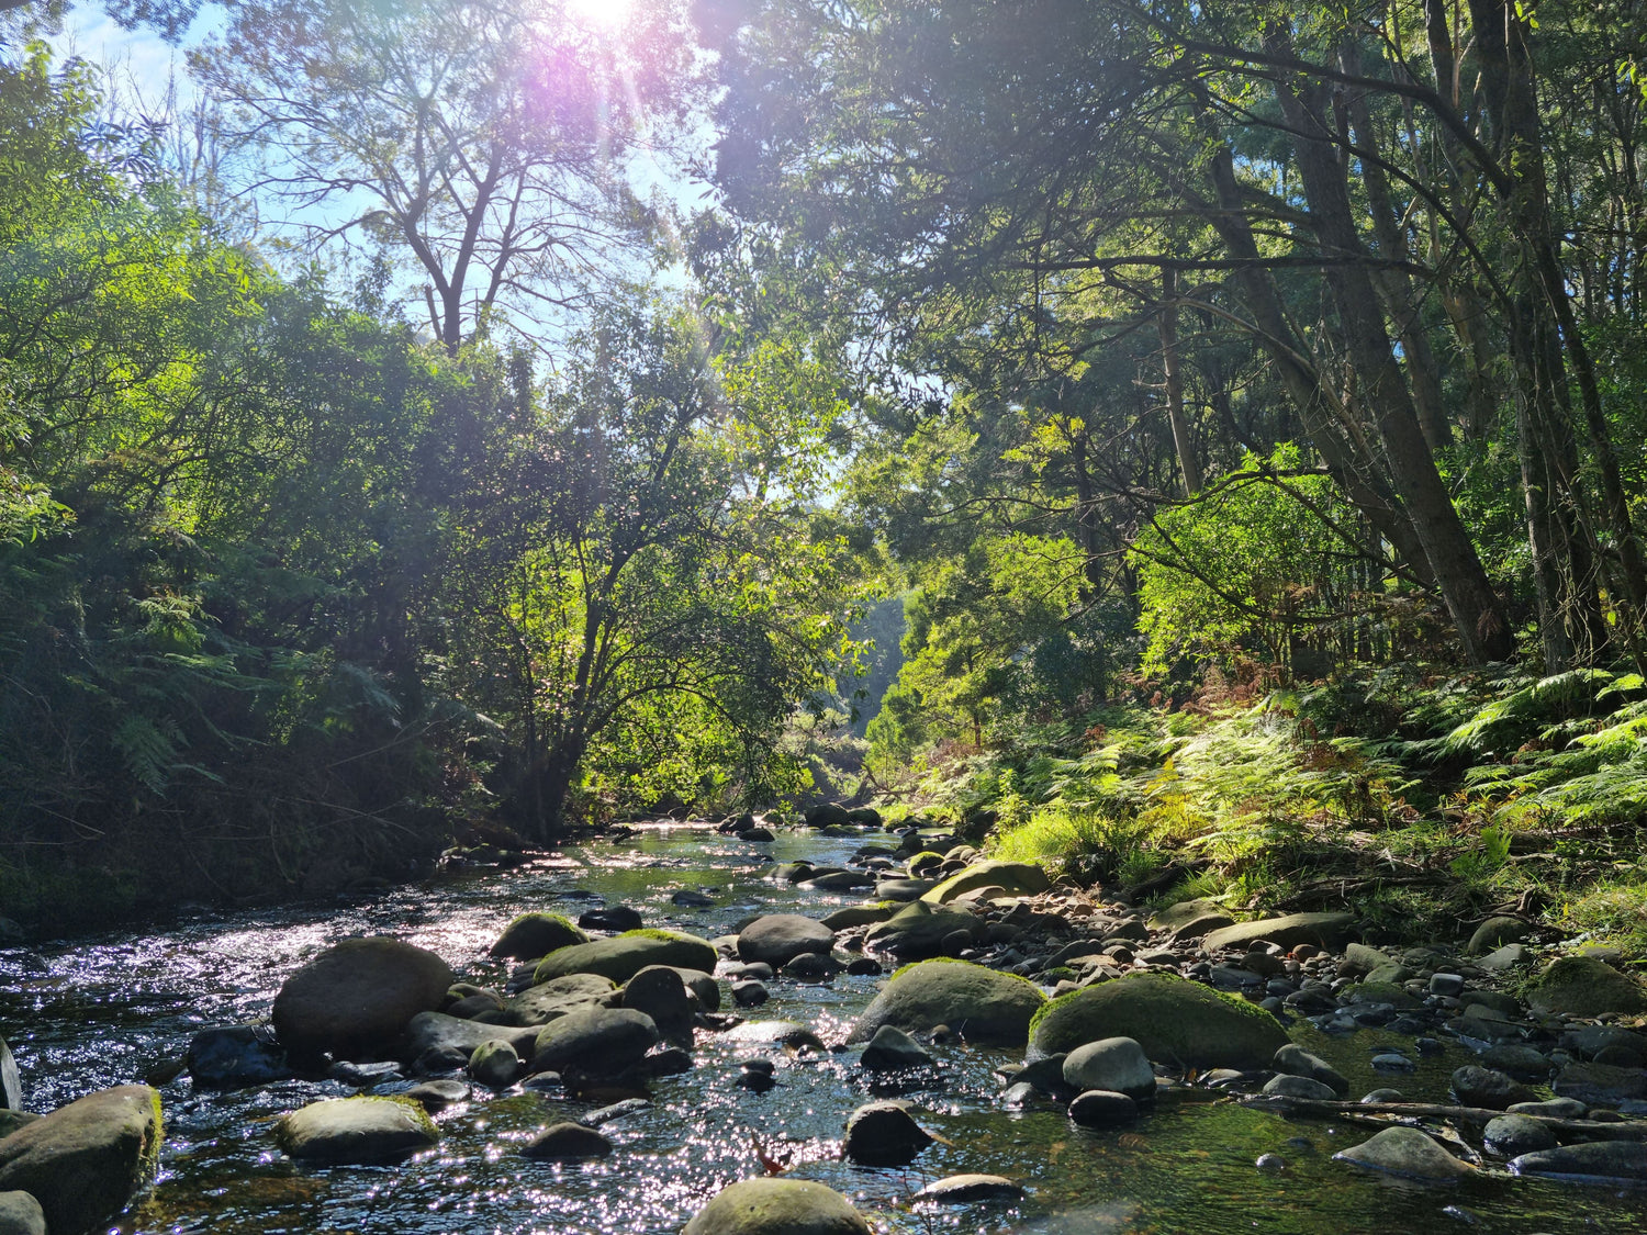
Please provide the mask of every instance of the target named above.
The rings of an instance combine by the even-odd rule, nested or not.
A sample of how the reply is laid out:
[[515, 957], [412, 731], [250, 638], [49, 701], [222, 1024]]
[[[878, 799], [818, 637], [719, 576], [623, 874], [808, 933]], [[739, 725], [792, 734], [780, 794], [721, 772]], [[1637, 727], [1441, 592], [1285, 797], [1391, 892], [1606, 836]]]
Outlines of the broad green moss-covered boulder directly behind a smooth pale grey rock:
[[1268, 1067], [1286, 1031], [1262, 1008], [1169, 973], [1133, 973], [1064, 995], [1029, 1029], [1029, 1060], [1131, 1037], [1158, 1064]]

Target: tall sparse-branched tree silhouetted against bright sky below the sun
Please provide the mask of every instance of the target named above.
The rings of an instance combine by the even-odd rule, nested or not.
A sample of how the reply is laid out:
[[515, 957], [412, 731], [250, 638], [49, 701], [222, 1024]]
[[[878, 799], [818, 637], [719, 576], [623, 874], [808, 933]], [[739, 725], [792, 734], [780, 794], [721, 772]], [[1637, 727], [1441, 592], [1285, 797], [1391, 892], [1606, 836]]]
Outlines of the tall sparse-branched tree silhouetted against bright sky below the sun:
[[404, 260], [455, 354], [644, 259], [629, 160], [690, 102], [680, 20], [641, 7], [619, 40], [567, 3], [236, 0], [193, 63], [260, 158], [254, 191], [315, 242]]

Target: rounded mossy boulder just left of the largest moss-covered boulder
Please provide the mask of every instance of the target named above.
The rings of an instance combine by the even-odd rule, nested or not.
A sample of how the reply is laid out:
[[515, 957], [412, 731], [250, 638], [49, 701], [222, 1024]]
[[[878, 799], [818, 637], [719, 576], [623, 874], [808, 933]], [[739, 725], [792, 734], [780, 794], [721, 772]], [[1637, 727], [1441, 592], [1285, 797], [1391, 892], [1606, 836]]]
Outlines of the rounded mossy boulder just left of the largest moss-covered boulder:
[[883, 1024], [906, 1034], [947, 1024], [968, 1042], [1016, 1047], [1029, 1037], [1029, 1021], [1044, 1003], [1026, 978], [965, 960], [924, 960], [893, 975], [847, 1041], [868, 1042]]

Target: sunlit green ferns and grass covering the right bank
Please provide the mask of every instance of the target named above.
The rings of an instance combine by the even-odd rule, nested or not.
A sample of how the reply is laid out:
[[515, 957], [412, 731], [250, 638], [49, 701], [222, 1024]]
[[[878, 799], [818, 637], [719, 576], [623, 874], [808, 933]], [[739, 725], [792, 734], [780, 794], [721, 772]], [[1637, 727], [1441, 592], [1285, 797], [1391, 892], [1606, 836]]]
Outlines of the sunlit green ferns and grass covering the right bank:
[[1214, 680], [950, 749], [883, 807], [1133, 901], [1354, 909], [1431, 942], [1517, 914], [1647, 953], [1647, 685], [1392, 667], [1296, 688]]

